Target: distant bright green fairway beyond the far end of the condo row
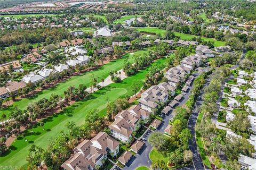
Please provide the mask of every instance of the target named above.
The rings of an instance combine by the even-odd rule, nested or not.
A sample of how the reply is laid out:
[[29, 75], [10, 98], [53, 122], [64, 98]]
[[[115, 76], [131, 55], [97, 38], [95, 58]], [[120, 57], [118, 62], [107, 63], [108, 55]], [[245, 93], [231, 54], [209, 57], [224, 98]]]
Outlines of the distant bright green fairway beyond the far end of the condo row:
[[[149, 27], [135, 28], [135, 29], [137, 29], [138, 31], [160, 34], [161, 36], [163, 36], [164, 33], [166, 32], [166, 30], [161, 30], [161, 29], [158, 29], [158, 28], [149, 28]], [[180, 32], [174, 32], [174, 34], [175, 34], [175, 36], [180, 36], [180, 38], [183, 39], [183, 40], [191, 40], [194, 37], [198, 37], [198, 36], [195, 36], [195, 35], [190, 35], [190, 34], [180, 33]], [[225, 45], [224, 41], [218, 41], [218, 40], [215, 40], [213, 38], [206, 38], [206, 37], [201, 37], [201, 38], [204, 41], [213, 41], [215, 47]]]

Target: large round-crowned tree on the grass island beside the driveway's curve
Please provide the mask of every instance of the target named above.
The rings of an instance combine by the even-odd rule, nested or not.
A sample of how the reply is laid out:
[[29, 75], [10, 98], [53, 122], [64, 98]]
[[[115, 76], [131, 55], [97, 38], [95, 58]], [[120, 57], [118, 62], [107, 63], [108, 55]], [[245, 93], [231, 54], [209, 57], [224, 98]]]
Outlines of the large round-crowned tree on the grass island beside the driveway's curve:
[[151, 133], [148, 142], [159, 151], [166, 149], [169, 144], [167, 137], [161, 132]]

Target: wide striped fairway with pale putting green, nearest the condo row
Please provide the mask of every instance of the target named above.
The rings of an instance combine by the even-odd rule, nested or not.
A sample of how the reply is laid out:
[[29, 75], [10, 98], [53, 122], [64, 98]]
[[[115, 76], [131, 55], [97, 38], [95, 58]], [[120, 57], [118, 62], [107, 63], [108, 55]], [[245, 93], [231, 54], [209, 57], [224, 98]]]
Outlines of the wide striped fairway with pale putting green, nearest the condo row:
[[[117, 62], [117, 61], [116, 61]], [[161, 58], [155, 62], [158, 67], [165, 67], [166, 58]], [[107, 100], [109, 102], [116, 100], [119, 96], [122, 95], [133, 95], [132, 83], [135, 80], [141, 82], [140, 87], [142, 87], [142, 81], [145, 79], [146, 73], [149, 71], [141, 70], [132, 77], [124, 79], [120, 83], [111, 83], [109, 86], [106, 86], [94, 94], [90, 95], [88, 98], [83, 101], [78, 101], [73, 105], [65, 108], [63, 112], [58, 114], [46, 117], [43, 121], [45, 123], [44, 128], [38, 124], [33, 128], [33, 133], [27, 132], [26, 139], [28, 142], [25, 142], [25, 139], [18, 137], [17, 140], [13, 142], [10, 147], [10, 150], [6, 152], [5, 155], [1, 156], [1, 166], [23, 166], [26, 165], [26, 157], [28, 155], [28, 149], [32, 144], [41, 146], [46, 149], [47, 144], [49, 143], [48, 139], [54, 139], [58, 132], [61, 130], [67, 132], [65, 124], [68, 121], [74, 121], [76, 125], [82, 125], [84, 123], [84, 117], [86, 111], [90, 109], [97, 108], [99, 111], [102, 111], [107, 106]], [[81, 75], [82, 77], [83, 75]], [[80, 79], [82, 79], [80, 77]], [[79, 82], [80, 83], [80, 82]], [[78, 85], [77, 83], [76, 85]], [[82, 82], [82, 83], [86, 83]], [[104, 114], [105, 115], [105, 114]]]

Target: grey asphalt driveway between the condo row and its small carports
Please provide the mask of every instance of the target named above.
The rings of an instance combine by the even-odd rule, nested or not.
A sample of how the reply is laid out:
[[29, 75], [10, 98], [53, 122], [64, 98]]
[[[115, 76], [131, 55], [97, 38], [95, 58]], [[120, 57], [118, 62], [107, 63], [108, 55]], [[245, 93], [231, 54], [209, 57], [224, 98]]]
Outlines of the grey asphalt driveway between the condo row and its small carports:
[[[195, 73], [194, 76], [196, 78], [198, 76], [198, 74]], [[183, 95], [183, 99], [178, 103], [178, 106], [185, 104], [186, 101], [188, 100], [189, 91], [192, 89], [193, 82], [189, 86], [189, 89], [188, 89], [186, 95]], [[173, 118], [172, 111], [169, 114], [167, 114], [165, 118], [163, 118], [161, 125], [155, 131], [164, 132], [164, 130], [167, 127], [167, 125], [169, 124], [169, 120], [171, 118]], [[139, 166], [147, 166], [147, 167], [150, 166], [151, 160], [149, 159], [149, 153], [153, 147], [148, 142], [148, 137], [152, 132], [153, 131], [151, 131], [151, 130], [147, 130], [147, 132], [144, 135], [142, 135], [142, 137], [146, 139], [145, 146], [140, 150], [139, 154], [133, 156], [133, 159], [130, 160], [130, 162], [123, 168], [124, 170], [136, 169]], [[184, 170], [193, 169], [193, 165], [189, 165], [187, 167], [180, 168], [180, 169], [181, 170], [182, 169], [184, 169]]]

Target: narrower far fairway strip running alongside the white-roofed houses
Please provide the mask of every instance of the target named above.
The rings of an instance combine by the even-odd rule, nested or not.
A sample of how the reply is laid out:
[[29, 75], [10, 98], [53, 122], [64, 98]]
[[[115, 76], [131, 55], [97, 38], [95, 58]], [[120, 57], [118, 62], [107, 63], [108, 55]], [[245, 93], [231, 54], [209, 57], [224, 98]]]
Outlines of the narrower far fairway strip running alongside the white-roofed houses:
[[[135, 52], [134, 54], [142, 54], [145, 52], [146, 52], [146, 50], [139, 50], [139, 51]], [[126, 54], [126, 55], [124, 55], [124, 57], [122, 59], [115, 60], [106, 65], [103, 65], [98, 70], [93, 70], [90, 72], [76, 75], [74, 77], [69, 78], [68, 80], [62, 81], [61, 83], [57, 84], [56, 86], [54, 86], [52, 88], [40, 91], [36, 95], [33, 95], [32, 97], [23, 98], [19, 101], [15, 101], [15, 103], [12, 104], [11, 106], [2, 109], [0, 111], [0, 116], [2, 116], [2, 114], [6, 114], [8, 117], [11, 109], [14, 106], [17, 106], [19, 109], [26, 109], [30, 103], [34, 103], [35, 101], [38, 101], [39, 99], [42, 99], [42, 98], [50, 98], [51, 94], [63, 96], [64, 91], [66, 91], [69, 86], [78, 87], [79, 84], [85, 84], [85, 86], [89, 87], [90, 86], [90, 77], [92, 74], [98, 76], [99, 80], [106, 79], [111, 70], [118, 71], [123, 68], [125, 58], [129, 58], [129, 61], [132, 63], [134, 62], [131, 55]]]

